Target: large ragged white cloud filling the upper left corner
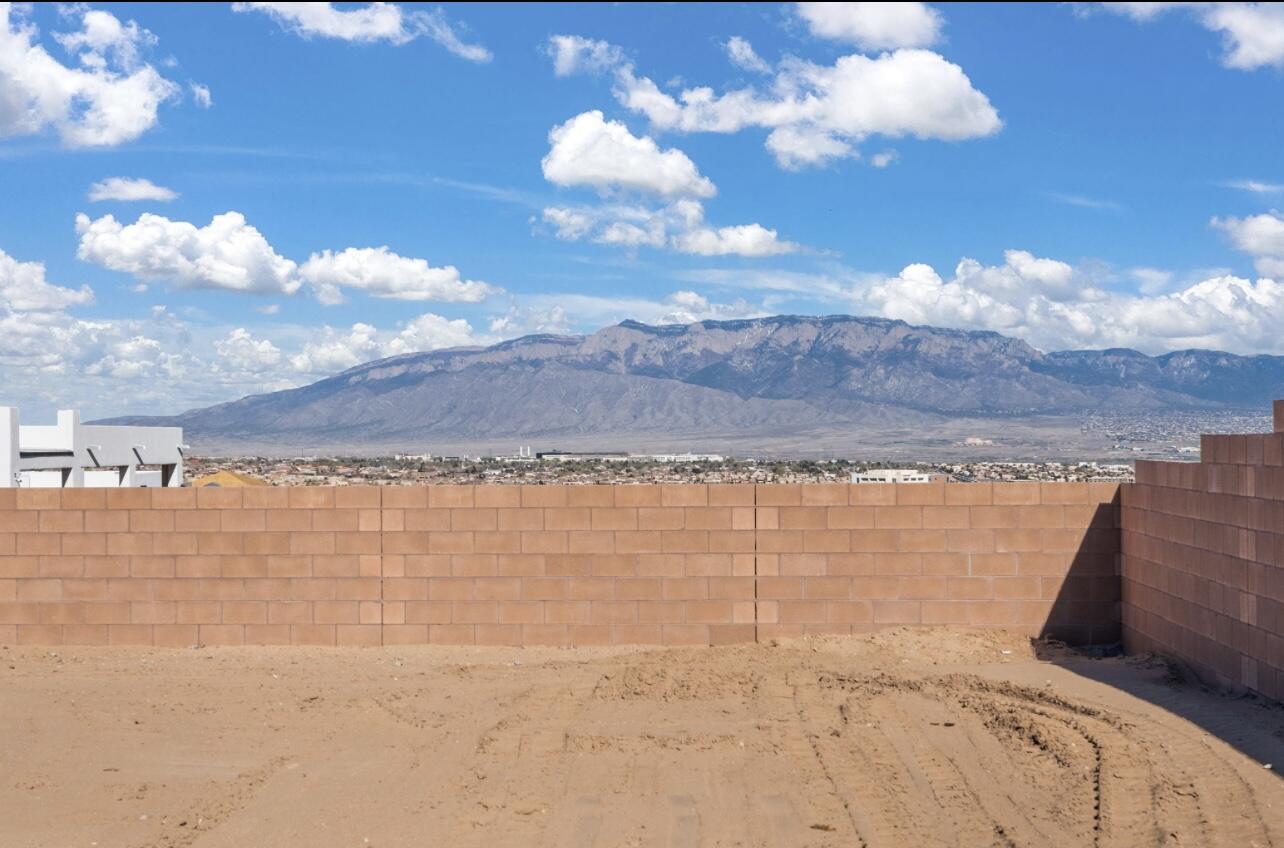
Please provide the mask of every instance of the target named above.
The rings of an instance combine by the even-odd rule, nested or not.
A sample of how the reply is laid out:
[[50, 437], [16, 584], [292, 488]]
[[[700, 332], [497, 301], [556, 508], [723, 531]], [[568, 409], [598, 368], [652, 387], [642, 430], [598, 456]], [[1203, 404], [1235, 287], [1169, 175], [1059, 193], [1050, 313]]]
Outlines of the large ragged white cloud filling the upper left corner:
[[141, 60], [155, 42], [132, 21], [68, 6], [81, 28], [54, 39], [78, 67], [55, 59], [22, 6], [0, 3], [0, 137], [53, 130], [69, 148], [131, 141], [157, 123], [160, 104], [178, 86]]

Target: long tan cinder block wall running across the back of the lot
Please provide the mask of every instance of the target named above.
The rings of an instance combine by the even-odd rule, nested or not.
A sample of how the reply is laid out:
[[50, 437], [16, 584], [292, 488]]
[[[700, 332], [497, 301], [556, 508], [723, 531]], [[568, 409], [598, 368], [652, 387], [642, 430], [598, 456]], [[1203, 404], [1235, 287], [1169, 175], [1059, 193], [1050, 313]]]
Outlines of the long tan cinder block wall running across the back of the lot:
[[3, 644], [1118, 635], [1115, 484], [0, 491]]

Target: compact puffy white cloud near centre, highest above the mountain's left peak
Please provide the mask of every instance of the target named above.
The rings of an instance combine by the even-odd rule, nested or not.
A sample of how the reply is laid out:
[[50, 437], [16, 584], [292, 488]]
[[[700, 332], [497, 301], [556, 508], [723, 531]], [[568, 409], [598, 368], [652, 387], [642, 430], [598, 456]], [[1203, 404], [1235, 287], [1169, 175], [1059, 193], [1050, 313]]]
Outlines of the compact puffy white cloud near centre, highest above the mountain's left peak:
[[596, 109], [553, 127], [548, 143], [541, 166], [544, 179], [555, 185], [625, 189], [666, 198], [707, 198], [716, 193], [686, 153], [663, 150], [654, 139], [633, 135], [624, 123], [607, 121]]

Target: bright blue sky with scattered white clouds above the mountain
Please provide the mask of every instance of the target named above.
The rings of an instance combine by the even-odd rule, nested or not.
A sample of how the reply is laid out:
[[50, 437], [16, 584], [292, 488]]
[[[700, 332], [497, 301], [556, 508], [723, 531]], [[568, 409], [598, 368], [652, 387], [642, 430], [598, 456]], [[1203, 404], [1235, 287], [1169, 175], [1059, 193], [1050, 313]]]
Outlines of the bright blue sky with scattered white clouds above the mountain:
[[627, 317], [1284, 353], [1281, 4], [0, 10], [32, 414]]

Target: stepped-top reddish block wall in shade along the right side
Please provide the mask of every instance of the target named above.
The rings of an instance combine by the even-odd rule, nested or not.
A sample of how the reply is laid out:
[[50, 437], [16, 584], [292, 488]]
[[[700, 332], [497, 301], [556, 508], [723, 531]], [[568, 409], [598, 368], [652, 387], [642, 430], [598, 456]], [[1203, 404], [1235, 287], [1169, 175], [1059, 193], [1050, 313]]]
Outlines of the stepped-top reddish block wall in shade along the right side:
[[1204, 436], [1199, 463], [1124, 487], [1124, 642], [1284, 699], [1284, 401], [1274, 434]]

